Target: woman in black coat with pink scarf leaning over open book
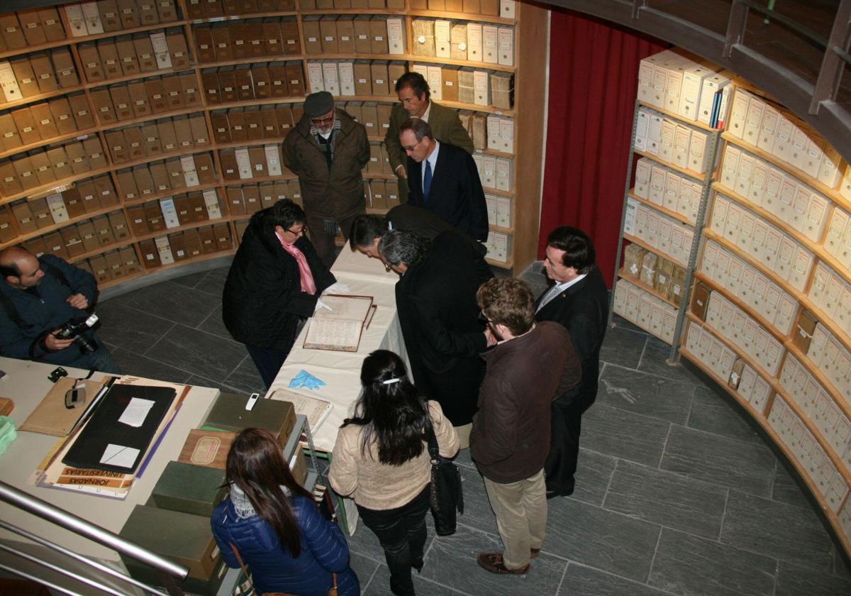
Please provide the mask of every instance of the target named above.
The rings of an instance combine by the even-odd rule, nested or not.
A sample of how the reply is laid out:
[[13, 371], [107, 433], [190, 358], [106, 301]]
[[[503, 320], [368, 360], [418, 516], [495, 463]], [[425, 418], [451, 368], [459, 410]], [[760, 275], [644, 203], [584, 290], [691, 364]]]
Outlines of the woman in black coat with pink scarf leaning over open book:
[[242, 341], [266, 387], [334, 275], [305, 236], [305, 212], [283, 199], [251, 217], [222, 295], [222, 319]]

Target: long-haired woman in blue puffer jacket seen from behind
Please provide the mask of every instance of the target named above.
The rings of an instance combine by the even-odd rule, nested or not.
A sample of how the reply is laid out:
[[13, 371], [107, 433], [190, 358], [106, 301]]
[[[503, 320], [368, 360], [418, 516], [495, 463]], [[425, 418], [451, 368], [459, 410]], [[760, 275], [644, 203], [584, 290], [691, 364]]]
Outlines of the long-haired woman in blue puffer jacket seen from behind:
[[229, 567], [240, 566], [237, 549], [256, 593], [327, 596], [333, 572], [340, 596], [360, 594], [346, 538], [293, 478], [271, 433], [247, 428], [237, 435], [226, 479], [231, 492], [213, 512], [213, 536]]

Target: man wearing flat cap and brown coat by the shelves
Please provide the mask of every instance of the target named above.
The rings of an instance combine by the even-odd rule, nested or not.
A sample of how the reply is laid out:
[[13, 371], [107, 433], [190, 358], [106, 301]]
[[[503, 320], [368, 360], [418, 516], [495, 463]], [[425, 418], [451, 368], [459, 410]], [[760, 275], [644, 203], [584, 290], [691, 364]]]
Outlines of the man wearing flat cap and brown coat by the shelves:
[[334, 237], [349, 233], [366, 211], [361, 169], [369, 161], [363, 124], [334, 107], [328, 91], [311, 93], [305, 113], [283, 140], [283, 163], [299, 177], [308, 235], [317, 253], [334, 264]]

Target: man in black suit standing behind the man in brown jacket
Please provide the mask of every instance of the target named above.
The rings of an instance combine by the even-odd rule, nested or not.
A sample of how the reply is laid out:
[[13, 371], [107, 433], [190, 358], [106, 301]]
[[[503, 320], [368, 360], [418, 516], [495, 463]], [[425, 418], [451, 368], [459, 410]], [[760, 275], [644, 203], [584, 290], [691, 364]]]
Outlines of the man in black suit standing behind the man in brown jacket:
[[546, 238], [544, 268], [553, 284], [538, 298], [535, 320], [563, 324], [582, 363], [580, 384], [552, 402], [550, 455], [544, 465], [548, 499], [574, 491], [582, 414], [597, 398], [608, 290], [594, 258], [591, 238], [575, 227], [557, 227]]

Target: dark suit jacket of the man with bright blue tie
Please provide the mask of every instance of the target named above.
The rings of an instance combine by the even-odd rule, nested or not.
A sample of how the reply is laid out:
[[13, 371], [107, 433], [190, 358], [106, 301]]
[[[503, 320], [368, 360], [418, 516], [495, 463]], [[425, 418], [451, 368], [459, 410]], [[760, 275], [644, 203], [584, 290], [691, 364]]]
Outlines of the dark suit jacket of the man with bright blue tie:
[[476, 162], [460, 147], [441, 143], [431, 175], [428, 200], [423, 197], [422, 163], [408, 158], [408, 203], [424, 207], [477, 240], [488, 239], [488, 205]]

